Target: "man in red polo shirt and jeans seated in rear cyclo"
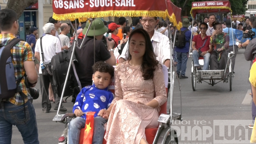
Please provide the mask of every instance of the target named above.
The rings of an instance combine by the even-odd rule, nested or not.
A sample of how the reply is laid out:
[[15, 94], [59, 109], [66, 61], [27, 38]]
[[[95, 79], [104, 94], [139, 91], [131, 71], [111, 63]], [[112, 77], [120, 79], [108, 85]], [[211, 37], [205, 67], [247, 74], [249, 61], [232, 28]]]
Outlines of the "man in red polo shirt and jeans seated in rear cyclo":
[[[194, 60], [194, 66], [197, 67], [198, 70], [201, 70], [199, 67], [199, 56], [203, 57], [203, 70], [208, 70], [209, 67], [209, 61], [210, 56], [212, 52], [212, 45], [210, 43], [210, 37], [206, 35], [206, 31], [208, 29], [208, 25], [206, 23], [201, 23], [199, 26], [199, 29], [201, 31], [200, 34], [195, 35], [192, 41], [191, 47], [193, 48], [193, 60]], [[201, 53], [201, 54], [199, 54]]]

